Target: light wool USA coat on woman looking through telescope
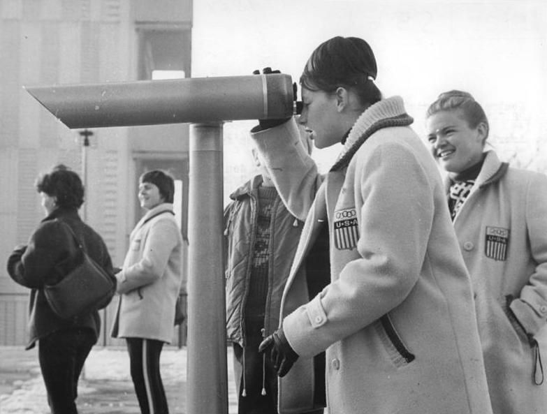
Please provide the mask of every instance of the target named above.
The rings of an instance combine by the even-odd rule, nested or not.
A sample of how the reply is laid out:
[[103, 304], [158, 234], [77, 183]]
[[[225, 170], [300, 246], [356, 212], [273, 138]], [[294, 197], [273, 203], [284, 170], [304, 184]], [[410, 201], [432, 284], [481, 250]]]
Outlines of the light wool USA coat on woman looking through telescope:
[[[282, 327], [300, 358], [280, 381], [281, 413], [309, 407], [310, 357], [322, 350], [330, 414], [492, 413], [442, 179], [411, 128], [390, 126], [411, 121], [398, 97], [368, 108], [345, 144], [356, 154], [317, 193], [293, 121], [254, 134], [289, 210], [309, 211], [282, 300]], [[302, 263], [324, 220], [331, 282], [310, 300]]]

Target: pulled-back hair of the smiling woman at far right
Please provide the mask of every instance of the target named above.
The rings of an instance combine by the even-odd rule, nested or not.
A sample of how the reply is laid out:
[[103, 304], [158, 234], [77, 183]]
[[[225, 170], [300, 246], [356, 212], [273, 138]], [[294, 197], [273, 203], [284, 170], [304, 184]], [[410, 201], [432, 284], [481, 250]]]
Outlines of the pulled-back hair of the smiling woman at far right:
[[490, 131], [488, 118], [486, 118], [483, 107], [475, 101], [472, 94], [456, 89], [443, 92], [439, 95], [437, 101], [429, 105], [428, 111], [426, 112], [426, 118], [429, 118], [437, 112], [449, 110], [461, 110], [467, 124], [469, 124], [469, 127], [471, 128], [476, 128], [481, 122], [484, 122], [484, 124], [486, 124], [486, 138], [488, 138], [488, 131]]

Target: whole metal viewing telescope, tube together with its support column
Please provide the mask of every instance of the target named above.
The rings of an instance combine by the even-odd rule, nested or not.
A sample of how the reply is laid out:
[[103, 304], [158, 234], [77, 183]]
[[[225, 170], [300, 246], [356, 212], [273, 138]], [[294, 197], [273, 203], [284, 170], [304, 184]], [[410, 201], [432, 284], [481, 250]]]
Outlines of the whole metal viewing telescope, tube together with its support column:
[[187, 412], [228, 413], [222, 123], [298, 112], [282, 73], [27, 87], [68, 128], [191, 123]]

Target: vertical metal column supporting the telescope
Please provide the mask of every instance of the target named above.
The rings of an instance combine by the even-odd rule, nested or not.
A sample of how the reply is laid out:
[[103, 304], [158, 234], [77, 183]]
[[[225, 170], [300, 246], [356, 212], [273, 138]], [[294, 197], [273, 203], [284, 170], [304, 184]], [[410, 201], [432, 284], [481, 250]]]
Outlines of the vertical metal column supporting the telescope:
[[192, 124], [189, 144], [186, 411], [227, 414], [222, 124]]

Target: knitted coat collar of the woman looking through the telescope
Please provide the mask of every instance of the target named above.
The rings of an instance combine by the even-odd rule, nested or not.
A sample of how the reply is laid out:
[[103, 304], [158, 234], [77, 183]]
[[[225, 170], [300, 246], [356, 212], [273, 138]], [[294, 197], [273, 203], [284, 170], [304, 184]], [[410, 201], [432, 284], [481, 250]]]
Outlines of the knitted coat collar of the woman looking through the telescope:
[[344, 142], [344, 149], [330, 170], [337, 171], [346, 167], [363, 142], [379, 129], [390, 126], [409, 126], [412, 122], [414, 119], [404, 110], [400, 96], [392, 96], [374, 103], [360, 114], [351, 127]]

